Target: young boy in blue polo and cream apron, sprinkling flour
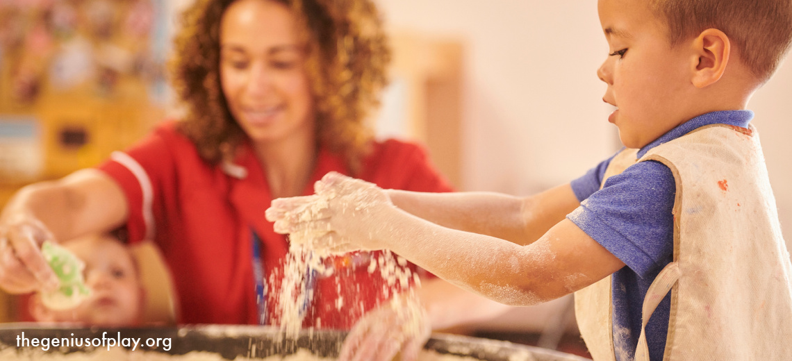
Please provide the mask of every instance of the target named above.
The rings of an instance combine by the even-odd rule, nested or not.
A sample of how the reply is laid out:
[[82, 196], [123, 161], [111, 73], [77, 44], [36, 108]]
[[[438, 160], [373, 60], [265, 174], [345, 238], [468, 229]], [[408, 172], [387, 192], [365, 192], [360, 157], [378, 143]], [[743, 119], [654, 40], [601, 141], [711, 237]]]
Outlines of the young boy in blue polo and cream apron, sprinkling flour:
[[595, 360], [792, 359], [792, 266], [744, 110], [790, 46], [792, 2], [600, 0], [599, 13], [598, 75], [626, 149], [584, 177], [516, 199], [329, 174], [268, 218], [512, 305], [576, 292]]

